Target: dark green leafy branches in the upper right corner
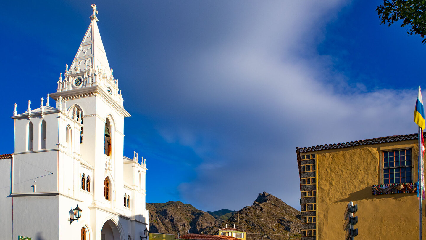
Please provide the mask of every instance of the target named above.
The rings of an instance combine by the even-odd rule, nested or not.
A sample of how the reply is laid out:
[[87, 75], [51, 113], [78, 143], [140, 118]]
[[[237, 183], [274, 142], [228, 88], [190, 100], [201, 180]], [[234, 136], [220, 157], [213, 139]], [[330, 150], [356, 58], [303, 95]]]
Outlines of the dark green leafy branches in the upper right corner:
[[[383, 5], [377, 7], [377, 15], [383, 24], [391, 26], [398, 20], [403, 20], [401, 27], [411, 26], [408, 35], [426, 35], [426, 0], [383, 0]], [[422, 41], [426, 43], [426, 38]]]

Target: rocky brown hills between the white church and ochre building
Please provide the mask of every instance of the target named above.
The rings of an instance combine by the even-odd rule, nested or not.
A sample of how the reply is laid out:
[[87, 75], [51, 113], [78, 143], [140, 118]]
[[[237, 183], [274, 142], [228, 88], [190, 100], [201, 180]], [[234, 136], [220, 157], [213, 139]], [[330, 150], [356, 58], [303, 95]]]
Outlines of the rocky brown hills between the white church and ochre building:
[[[215, 234], [225, 224], [247, 231], [247, 240], [300, 239], [300, 211], [272, 194], [260, 193], [253, 205], [240, 211], [222, 209], [204, 212], [182, 202], [147, 203], [150, 232], [181, 235]], [[268, 240], [264, 237], [264, 240]]]

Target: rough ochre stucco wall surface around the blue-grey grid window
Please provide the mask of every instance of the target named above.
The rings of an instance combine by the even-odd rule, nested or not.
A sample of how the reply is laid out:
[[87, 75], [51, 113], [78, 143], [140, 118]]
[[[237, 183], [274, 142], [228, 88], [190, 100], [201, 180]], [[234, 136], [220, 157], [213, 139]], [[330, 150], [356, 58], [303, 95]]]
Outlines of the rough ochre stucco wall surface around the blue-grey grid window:
[[416, 193], [374, 196], [371, 191], [380, 184], [381, 151], [397, 148], [412, 149], [412, 181], [417, 181], [417, 140], [310, 152], [317, 154], [317, 239], [344, 238], [343, 214], [348, 202], [358, 204], [354, 214], [358, 216], [357, 240], [418, 239]]

